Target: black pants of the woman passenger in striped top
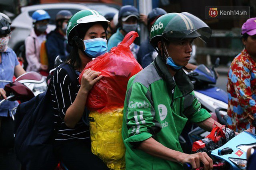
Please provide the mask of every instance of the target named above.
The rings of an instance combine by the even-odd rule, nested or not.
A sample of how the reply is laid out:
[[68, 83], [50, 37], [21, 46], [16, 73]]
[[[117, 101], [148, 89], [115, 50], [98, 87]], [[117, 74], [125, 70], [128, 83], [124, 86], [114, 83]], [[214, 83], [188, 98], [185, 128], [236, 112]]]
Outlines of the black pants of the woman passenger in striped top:
[[108, 170], [104, 162], [92, 153], [90, 138], [56, 140], [54, 152], [68, 170]]

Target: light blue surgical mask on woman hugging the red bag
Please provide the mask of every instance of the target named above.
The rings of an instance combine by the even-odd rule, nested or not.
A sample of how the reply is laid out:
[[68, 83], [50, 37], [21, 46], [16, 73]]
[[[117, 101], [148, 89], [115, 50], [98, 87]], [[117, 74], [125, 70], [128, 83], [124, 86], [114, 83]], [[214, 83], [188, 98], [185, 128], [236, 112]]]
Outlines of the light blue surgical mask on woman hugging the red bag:
[[88, 57], [95, 58], [99, 55], [106, 53], [108, 50], [107, 40], [103, 38], [94, 38], [90, 40], [84, 40], [84, 52]]

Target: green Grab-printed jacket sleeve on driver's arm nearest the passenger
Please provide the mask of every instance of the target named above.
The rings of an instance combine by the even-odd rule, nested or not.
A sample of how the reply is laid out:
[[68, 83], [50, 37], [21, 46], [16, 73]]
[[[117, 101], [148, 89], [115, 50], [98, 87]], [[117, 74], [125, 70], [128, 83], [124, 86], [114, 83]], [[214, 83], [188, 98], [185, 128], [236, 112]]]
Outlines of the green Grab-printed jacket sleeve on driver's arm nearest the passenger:
[[150, 91], [140, 83], [134, 83], [126, 93], [124, 114], [128, 127], [125, 142], [140, 142], [154, 136], [161, 130], [154, 119], [155, 111]]

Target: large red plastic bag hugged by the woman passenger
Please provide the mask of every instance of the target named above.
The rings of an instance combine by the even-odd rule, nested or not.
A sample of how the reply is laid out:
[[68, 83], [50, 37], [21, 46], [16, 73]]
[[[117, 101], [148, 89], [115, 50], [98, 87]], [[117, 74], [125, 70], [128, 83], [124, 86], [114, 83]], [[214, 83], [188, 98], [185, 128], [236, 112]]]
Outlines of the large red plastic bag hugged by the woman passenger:
[[[103, 76], [88, 94], [86, 107], [90, 111], [102, 112], [124, 106], [128, 80], [142, 70], [129, 47], [136, 37], [137, 32], [129, 32], [117, 47], [96, 57], [84, 68], [100, 71]], [[83, 73], [79, 77], [80, 84]]]

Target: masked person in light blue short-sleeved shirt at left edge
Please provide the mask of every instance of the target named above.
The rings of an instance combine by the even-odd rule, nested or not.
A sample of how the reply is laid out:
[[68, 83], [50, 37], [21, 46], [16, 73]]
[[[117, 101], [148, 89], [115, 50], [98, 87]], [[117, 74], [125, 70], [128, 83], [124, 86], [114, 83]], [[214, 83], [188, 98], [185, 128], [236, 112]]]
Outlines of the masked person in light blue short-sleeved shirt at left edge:
[[[10, 24], [0, 15], [0, 80], [12, 81], [25, 73], [25, 70], [18, 62], [17, 56], [7, 44], [10, 39]], [[6, 99], [4, 85], [0, 82], [0, 100]], [[14, 121], [10, 116], [12, 108], [18, 106], [16, 101], [5, 101], [0, 106], [0, 169], [18, 170], [20, 163], [14, 152]]]

